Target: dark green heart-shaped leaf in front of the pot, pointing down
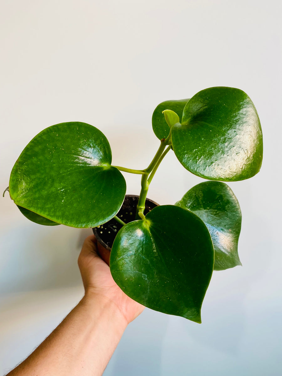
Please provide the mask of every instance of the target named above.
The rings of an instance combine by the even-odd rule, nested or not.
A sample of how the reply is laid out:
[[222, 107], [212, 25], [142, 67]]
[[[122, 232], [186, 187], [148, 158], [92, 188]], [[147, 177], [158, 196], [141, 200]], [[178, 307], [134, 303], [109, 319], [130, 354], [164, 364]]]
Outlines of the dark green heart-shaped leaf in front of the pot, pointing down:
[[214, 266], [205, 224], [174, 205], [157, 206], [126, 224], [111, 250], [115, 282], [137, 302], [201, 322], [201, 306]]

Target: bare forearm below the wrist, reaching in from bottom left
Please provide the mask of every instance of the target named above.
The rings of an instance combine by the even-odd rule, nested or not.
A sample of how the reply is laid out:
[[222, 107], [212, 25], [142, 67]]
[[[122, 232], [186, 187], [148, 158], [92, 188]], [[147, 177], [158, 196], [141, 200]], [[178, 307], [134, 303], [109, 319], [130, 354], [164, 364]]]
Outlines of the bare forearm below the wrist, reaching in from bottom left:
[[8, 375], [100, 376], [126, 326], [126, 319], [114, 303], [88, 294]]

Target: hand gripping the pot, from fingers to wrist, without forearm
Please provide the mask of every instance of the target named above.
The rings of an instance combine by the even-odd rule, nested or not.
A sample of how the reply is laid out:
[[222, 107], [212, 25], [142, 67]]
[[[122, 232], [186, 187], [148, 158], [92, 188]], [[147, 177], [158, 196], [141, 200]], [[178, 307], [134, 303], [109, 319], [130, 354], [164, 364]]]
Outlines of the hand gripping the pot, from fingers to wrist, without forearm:
[[[103, 257], [105, 262], [99, 256]], [[107, 262], [107, 264], [106, 264]], [[79, 270], [85, 289], [85, 296], [97, 296], [113, 302], [129, 324], [143, 310], [144, 306], [128, 297], [115, 283], [109, 268], [109, 253], [97, 245], [94, 235], [87, 237], [78, 258]]]

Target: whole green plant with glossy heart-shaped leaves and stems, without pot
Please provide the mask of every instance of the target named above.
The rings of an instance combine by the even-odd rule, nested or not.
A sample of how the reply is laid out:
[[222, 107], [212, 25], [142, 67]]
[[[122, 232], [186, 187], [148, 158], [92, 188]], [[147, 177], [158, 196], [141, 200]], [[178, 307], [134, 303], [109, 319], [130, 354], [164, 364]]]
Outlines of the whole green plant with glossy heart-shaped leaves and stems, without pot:
[[[149, 308], [200, 323], [212, 271], [241, 265], [240, 206], [223, 182], [258, 173], [261, 125], [247, 94], [229, 87], [162, 102], [152, 124], [161, 144], [144, 170], [113, 166], [108, 140], [89, 124], [44, 129], [16, 161], [9, 194], [39, 224], [88, 228], [115, 218], [122, 227], [110, 269], [121, 289]], [[144, 215], [149, 185], [170, 150], [188, 171], [212, 181]], [[117, 217], [126, 193], [120, 171], [141, 175], [136, 218], [127, 224]]]

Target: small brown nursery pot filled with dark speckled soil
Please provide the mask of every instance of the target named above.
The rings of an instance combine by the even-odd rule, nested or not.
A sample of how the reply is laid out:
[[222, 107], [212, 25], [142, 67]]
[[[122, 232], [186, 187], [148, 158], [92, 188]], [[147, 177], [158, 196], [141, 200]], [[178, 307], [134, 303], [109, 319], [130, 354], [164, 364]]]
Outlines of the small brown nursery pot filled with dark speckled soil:
[[[117, 213], [117, 217], [125, 223], [135, 221], [136, 207], [139, 196], [127, 194], [124, 198], [123, 205]], [[151, 211], [156, 206], [159, 206], [155, 201], [146, 199], [144, 215]], [[141, 218], [140, 218], [141, 219]], [[114, 243], [115, 237], [122, 225], [114, 218], [110, 221], [92, 228], [93, 233], [97, 239], [98, 252], [101, 258], [109, 264], [110, 252]]]

